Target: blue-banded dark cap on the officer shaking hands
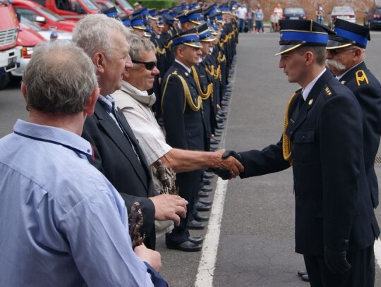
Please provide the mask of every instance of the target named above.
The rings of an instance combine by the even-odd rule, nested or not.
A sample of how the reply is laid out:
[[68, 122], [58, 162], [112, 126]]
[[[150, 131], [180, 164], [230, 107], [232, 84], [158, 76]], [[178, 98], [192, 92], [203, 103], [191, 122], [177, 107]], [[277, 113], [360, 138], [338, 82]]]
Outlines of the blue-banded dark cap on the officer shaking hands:
[[313, 20], [279, 20], [279, 49], [274, 56], [286, 53], [301, 45], [326, 47], [328, 35], [335, 32]]

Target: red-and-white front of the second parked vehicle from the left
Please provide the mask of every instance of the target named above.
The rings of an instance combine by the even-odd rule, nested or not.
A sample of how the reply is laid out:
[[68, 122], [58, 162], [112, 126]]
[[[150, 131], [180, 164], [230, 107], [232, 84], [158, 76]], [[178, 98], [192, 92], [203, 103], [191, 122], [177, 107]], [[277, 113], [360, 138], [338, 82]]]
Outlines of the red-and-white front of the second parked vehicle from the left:
[[16, 77], [23, 76], [23, 71], [28, 65], [30, 58], [32, 58], [33, 50], [37, 44], [45, 42], [46, 40], [40, 34], [34, 30], [28, 28], [28, 26], [20, 23], [20, 29], [18, 30], [17, 45], [22, 47], [20, 66], [16, 70], [11, 71], [11, 75]]

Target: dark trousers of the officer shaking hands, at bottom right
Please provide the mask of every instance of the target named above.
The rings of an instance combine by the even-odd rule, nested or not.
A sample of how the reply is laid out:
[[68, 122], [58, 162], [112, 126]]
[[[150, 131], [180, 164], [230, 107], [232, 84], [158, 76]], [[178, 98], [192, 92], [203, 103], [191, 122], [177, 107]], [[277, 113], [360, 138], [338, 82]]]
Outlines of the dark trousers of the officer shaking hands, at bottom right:
[[311, 287], [373, 287], [375, 285], [375, 252], [373, 245], [348, 250], [346, 259], [351, 269], [345, 274], [333, 274], [327, 269], [324, 257], [304, 255]]

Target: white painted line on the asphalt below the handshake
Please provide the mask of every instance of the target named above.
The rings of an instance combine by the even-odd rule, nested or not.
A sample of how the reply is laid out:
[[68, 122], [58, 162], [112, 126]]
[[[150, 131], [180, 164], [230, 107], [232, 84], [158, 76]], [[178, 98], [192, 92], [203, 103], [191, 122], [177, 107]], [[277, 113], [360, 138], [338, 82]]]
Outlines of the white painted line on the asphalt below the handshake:
[[198, 265], [195, 287], [213, 286], [214, 267], [217, 258], [221, 220], [224, 214], [227, 183], [228, 181], [224, 181], [221, 178], [217, 180], [207, 234], [204, 243], [202, 243], [202, 255]]

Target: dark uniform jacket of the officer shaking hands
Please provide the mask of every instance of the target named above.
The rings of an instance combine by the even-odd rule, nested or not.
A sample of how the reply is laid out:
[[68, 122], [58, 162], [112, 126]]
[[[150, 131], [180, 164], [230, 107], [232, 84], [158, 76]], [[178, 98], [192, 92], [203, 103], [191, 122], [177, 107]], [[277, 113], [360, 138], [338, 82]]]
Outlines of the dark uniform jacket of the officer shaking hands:
[[[363, 159], [363, 118], [353, 93], [325, 71], [298, 111], [292, 102], [291, 140], [296, 199], [296, 252], [323, 255], [365, 248], [380, 234]], [[283, 137], [282, 137], [283, 138]], [[282, 138], [262, 151], [242, 152], [242, 178], [287, 169]]]

